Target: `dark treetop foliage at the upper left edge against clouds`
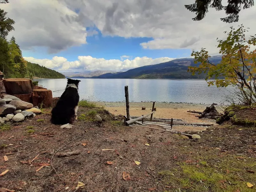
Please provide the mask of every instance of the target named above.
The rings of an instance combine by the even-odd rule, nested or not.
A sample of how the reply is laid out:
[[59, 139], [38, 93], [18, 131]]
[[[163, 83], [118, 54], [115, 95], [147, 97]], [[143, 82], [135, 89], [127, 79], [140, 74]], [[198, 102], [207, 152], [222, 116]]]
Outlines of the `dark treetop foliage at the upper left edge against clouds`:
[[10, 31], [14, 30], [12, 25], [15, 23], [14, 20], [6, 18], [6, 14], [7, 12], [0, 9], [0, 36], [4, 39], [7, 37]]

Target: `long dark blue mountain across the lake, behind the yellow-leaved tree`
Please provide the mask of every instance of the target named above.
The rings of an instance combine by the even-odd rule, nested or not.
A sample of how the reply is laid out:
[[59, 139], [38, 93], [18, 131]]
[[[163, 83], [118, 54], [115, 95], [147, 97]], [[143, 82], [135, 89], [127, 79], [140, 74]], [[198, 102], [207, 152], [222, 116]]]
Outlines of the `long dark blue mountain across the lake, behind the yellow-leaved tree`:
[[[222, 56], [212, 56], [209, 60], [212, 63], [219, 63]], [[109, 79], [202, 79], [205, 74], [196, 74], [187, 72], [188, 66], [199, 66], [195, 64], [193, 58], [175, 59], [165, 63], [147, 65], [139, 68], [130, 69], [125, 72], [106, 73], [91, 78], [109, 78]]]

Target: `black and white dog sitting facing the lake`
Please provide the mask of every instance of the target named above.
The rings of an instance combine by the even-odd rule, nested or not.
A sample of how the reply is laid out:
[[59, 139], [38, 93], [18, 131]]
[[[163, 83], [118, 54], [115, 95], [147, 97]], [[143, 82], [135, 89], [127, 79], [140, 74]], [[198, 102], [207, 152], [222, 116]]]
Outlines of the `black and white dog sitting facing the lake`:
[[68, 79], [64, 93], [62, 93], [56, 106], [52, 109], [51, 122], [62, 125], [61, 128], [71, 128], [78, 110], [79, 94], [78, 84], [80, 80]]

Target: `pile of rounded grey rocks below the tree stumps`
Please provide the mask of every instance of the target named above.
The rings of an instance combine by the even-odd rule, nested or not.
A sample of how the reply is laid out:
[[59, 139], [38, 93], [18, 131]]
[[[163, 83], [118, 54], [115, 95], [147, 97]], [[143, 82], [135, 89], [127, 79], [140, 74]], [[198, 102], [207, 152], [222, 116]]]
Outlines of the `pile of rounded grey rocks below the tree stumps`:
[[40, 113], [41, 110], [38, 107], [34, 107], [32, 103], [22, 101], [13, 95], [3, 95], [0, 99], [0, 123], [10, 120], [20, 122]]

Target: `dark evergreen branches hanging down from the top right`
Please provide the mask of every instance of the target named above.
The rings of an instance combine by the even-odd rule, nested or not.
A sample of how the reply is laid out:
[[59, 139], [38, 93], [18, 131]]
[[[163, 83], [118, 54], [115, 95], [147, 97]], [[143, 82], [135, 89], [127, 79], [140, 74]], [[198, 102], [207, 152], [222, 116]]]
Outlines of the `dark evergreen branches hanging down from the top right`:
[[228, 17], [221, 18], [223, 22], [233, 23], [239, 20], [239, 12], [241, 9], [248, 9], [254, 5], [253, 0], [228, 0], [228, 5], [223, 6], [222, 0], [196, 0], [194, 4], [185, 5], [186, 9], [191, 12], [196, 12], [194, 21], [200, 21], [204, 19], [205, 14], [208, 12], [208, 8], [215, 8], [217, 11], [225, 10]]

